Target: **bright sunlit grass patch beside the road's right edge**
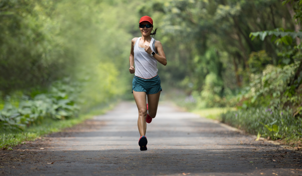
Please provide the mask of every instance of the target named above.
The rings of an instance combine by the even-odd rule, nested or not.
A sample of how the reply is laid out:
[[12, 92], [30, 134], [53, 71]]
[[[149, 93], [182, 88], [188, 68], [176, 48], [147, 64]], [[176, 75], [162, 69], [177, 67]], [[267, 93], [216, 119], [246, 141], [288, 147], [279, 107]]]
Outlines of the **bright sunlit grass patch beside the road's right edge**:
[[199, 114], [201, 117], [221, 121], [221, 114], [226, 113], [228, 110], [233, 109], [229, 107], [213, 107], [207, 109], [192, 110], [191, 112], [194, 114]]

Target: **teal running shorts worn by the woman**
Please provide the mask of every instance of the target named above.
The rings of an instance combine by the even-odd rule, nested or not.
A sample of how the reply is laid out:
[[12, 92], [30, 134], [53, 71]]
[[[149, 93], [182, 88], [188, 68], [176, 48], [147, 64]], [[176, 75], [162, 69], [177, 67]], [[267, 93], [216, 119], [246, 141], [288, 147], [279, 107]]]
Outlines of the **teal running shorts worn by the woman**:
[[132, 93], [133, 90], [136, 92], [146, 92], [146, 94], [156, 94], [157, 92], [162, 91], [160, 78], [158, 75], [150, 79], [134, 76], [132, 81]]

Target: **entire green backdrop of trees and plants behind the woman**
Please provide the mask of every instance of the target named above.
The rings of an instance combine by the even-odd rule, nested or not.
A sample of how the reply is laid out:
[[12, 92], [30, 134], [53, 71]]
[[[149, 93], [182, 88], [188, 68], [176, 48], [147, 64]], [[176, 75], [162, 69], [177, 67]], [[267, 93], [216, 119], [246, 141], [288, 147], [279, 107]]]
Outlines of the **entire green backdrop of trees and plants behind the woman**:
[[148, 15], [167, 56], [165, 100], [297, 143], [301, 9], [301, 0], [1, 0], [2, 133], [133, 100], [131, 39]]

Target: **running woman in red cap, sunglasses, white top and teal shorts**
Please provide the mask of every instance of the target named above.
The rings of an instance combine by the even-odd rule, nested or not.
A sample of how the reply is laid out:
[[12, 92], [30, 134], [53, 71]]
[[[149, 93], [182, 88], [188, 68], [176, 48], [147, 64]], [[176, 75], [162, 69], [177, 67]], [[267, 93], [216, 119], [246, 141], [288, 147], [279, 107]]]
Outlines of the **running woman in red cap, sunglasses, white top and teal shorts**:
[[[146, 128], [156, 116], [159, 95], [162, 91], [160, 78], [157, 75], [157, 62], [167, 65], [167, 59], [162, 48], [162, 43], [154, 40], [153, 20], [148, 16], [140, 18], [140, 32], [142, 37], [133, 38], [130, 51], [129, 72], [134, 73], [132, 93], [138, 109], [137, 126], [140, 132], [138, 145], [140, 150], [147, 150]], [[154, 48], [153, 48], [154, 47]], [[158, 53], [158, 54], [157, 54]], [[133, 64], [135, 63], [135, 68]], [[146, 95], [148, 104], [146, 104]]]

